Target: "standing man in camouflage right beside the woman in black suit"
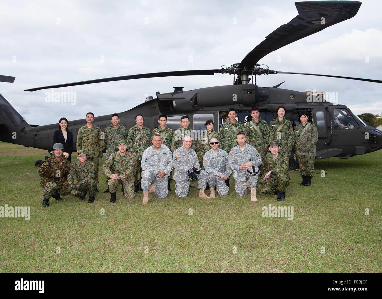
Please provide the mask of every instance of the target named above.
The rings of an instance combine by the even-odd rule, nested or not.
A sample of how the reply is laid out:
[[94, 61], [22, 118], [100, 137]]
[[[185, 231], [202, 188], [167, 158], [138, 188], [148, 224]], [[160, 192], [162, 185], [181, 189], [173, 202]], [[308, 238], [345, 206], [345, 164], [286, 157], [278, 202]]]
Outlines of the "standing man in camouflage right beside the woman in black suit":
[[[77, 135], [77, 150], [85, 149], [87, 151], [87, 160], [95, 165], [95, 180], [98, 184], [99, 158], [104, 154], [102, 150], [105, 147], [104, 139], [101, 139], [101, 129], [93, 124], [94, 114], [86, 113], [86, 125], [79, 128]], [[95, 187], [95, 192], [99, 192]]]

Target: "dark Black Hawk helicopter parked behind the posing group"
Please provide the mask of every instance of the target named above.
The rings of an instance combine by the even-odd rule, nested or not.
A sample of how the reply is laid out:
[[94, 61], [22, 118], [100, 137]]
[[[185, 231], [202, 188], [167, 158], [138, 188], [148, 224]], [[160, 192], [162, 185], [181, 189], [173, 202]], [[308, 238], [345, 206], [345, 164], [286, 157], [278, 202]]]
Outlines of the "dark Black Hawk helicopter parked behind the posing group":
[[[136, 74], [38, 87], [27, 91], [128, 79], [214, 75], [216, 73], [233, 74], [233, 85], [214, 86], [191, 91], [183, 91], [183, 87], [174, 87], [174, 92], [166, 94], [157, 92], [155, 99], [119, 113], [120, 123], [126, 128], [131, 128], [135, 124], [135, 115], [141, 113], [145, 118], [145, 126], [152, 130], [158, 126], [158, 116], [165, 114], [168, 116], [167, 125], [175, 129], [180, 124], [181, 116], [187, 115], [191, 122], [190, 127], [194, 130], [204, 130], [204, 122], [212, 119], [215, 123], [214, 130], [218, 131], [219, 124], [222, 123], [221, 118], [219, 118], [220, 113], [227, 111], [231, 107], [238, 110], [238, 120], [245, 123], [248, 121], [250, 108], [257, 105], [261, 110], [261, 118], [269, 124], [271, 120], [277, 117], [275, 113], [277, 105], [285, 105], [287, 110], [285, 117], [293, 125], [299, 123], [298, 112], [300, 110], [308, 109], [312, 113], [312, 122], [317, 126], [319, 134], [316, 145], [316, 159], [329, 157], [348, 158], [381, 149], [382, 132], [365, 124], [357, 116], [353, 115], [345, 105], [329, 103], [323, 98], [317, 100], [304, 92], [280, 89], [278, 88], [280, 84], [273, 87], [256, 85], [256, 75], [277, 73], [326, 76], [382, 83], [382, 81], [372, 79], [290, 73], [261, 68], [257, 62], [265, 55], [333, 24], [352, 18], [358, 12], [361, 2], [312, 1], [296, 2], [295, 5], [298, 16], [269, 34], [240, 63], [228, 67]], [[253, 81], [253, 76], [255, 76], [255, 81]], [[14, 79], [14, 77], [0, 76], [0, 80], [4, 82], [13, 82]], [[255, 84], [251, 84], [251, 81]], [[97, 116], [95, 124], [104, 130], [110, 124], [110, 120], [111, 114]], [[74, 142], [76, 142], [78, 129], [84, 124], [84, 119], [69, 121], [69, 128], [73, 132]], [[10, 103], [0, 95], [1, 141], [50, 151], [53, 145], [53, 133], [56, 129], [57, 123], [46, 126], [29, 125]], [[15, 134], [17, 138], [13, 139]], [[75, 151], [75, 148], [73, 151]], [[296, 162], [291, 156], [290, 169], [295, 169], [295, 167]]]

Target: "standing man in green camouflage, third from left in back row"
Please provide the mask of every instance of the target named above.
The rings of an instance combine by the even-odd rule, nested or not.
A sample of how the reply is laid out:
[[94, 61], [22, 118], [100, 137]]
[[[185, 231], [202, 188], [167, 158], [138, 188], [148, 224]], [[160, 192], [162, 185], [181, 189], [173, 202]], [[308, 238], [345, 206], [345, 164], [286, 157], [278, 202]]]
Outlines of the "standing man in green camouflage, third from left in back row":
[[[125, 126], [119, 124], [120, 119], [117, 113], [112, 115], [112, 124], [105, 129], [105, 147], [106, 147], [106, 159], [110, 157], [113, 152], [118, 152], [117, 144], [121, 139], [127, 139], [127, 129]], [[106, 178], [106, 184], [107, 184]], [[104, 193], [109, 192], [109, 187]]]

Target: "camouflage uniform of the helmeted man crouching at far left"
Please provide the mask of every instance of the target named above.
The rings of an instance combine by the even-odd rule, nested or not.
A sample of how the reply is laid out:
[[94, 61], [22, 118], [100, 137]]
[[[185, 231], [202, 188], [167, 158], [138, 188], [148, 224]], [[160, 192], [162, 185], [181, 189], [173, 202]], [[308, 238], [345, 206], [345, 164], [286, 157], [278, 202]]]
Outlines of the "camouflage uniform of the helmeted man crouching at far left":
[[39, 175], [42, 177], [40, 184], [44, 188], [45, 199], [50, 199], [56, 190], [62, 196], [70, 194], [71, 188], [66, 180], [69, 170], [70, 162], [64, 157], [60, 162], [54, 156], [49, 157], [42, 163]]

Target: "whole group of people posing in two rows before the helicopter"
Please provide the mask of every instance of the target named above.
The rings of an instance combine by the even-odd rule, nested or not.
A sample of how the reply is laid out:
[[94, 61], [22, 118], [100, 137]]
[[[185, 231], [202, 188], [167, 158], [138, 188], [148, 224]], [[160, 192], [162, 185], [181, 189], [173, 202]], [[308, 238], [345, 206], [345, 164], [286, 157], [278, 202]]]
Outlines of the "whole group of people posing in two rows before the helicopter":
[[[213, 130], [213, 120], [207, 120], [198, 141], [189, 128], [188, 116], [182, 116], [180, 127], [173, 131], [167, 126], [167, 116], [160, 115], [159, 126], [151, 133], [144, 127], [144, 117], [136, 115], [132, 128], [120, 124], [119, 116], [112, 115], [110, 126], [104, 132], [93, 124], [94, 114], [86, 114], [86, 125], [77, 136], [77, 160], [71, 163], [73, 134], [67, 130], [68, 121], [61, 118], [59, 130], [53, 137], [53, 154], [41, 165], [39, 174], [44, 187], [42, 205], [49, 206], [50, 197], [56, 200], [73, 194], [80, 200], [88, 193], [88, 202], [94, 202], [98, 192], [99, 158], [106, 149], [103, 170], [107, 176], [110, 202], [117, 199], [118, 184], [126, 198], [133, 198], [141, 188], [143, 204], [148, 204], [149, 194], [165, 198], [175, 180], [175, 194], [186, 197], [190, 182], [197, 180], [199, 197], [215, 198], [215, 188], [220, 196], [229, 191], [229, 178], [233, 173], [235, 191], [245, 196], [250, 189], [251, 202], [257, 202], [256, 189], [263, 194], [277, 194], [277, 200], [285, 199], [285, 188], [290, 184], [288, 175], [290, 152], [294, 149], [300, 164], [303, 181], [311, 185], [316, 156], [317, 128], [309, 123], [310, 113], [299, 113], [301, 123], [293, 131], [285, 119], [286, 108], [276, 108], [278, 118], [261, 120], [258, 107], [251, 108], [252, 119], [243, 126], [236, 120], [234, 108], [220, 127]], [[173, 176], [172, 176], [172, 170]], [[210, 189], [209, 196], [206, 188]]]

